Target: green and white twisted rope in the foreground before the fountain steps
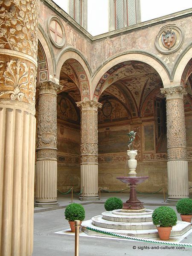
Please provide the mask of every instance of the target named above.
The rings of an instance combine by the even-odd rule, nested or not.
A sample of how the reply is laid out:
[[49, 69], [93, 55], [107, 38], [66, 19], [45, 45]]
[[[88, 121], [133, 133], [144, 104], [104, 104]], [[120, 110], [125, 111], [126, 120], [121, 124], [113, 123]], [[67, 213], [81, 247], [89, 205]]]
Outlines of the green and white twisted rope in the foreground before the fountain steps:
[[164, 241], [156, 241], [156, 240], [151, 240], [151, 239], [144, 239], [144, 238], [139, 238], [139, 237], [134, 237], [134, 236], [125, 236], [125, 235], [120, 235], [112, 232], [107, 232], [103, 230], [97, 230], [92, 227], [86, 227], [87, 230], [95, 231], [97, 233], [102, 233], [105, 235], [109, 236], [116, 236], [119, 238], [124, 238], [124, 239], [129, 239], [129, 240], [134, 240], [134, 241], [140, 241], [140, 242], [147, 242], [147, 243], [153, 243], [153, 244], [168, 244], [168, 245], [173, 245], [173, 246], [184, 246], [184, 247], [192, 247], [192, 244], [184, 244], [184, 243], [173, 243], [173, 242], [164, 242]]

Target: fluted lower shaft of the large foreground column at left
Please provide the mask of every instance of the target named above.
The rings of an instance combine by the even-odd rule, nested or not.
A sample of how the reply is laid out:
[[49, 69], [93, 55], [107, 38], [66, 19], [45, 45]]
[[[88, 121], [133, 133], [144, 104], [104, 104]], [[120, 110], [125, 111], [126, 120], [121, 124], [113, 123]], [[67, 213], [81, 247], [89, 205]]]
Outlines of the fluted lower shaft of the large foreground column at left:
[[34, 108], [0, 101], [0, 255], [33, 250], [35, 169]]

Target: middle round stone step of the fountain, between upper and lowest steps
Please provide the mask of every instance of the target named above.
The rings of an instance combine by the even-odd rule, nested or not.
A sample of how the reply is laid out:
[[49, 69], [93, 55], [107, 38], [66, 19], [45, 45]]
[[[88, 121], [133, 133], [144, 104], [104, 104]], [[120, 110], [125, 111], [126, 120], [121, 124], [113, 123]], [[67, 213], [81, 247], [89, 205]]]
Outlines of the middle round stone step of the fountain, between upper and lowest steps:
[[153, 222], [115, 222], [107, 221], [102, 218], [102, 215], [91, 218], [92, 224], [96, 227], [104, 227], [117, 230], [151, 230], [156, 229]]

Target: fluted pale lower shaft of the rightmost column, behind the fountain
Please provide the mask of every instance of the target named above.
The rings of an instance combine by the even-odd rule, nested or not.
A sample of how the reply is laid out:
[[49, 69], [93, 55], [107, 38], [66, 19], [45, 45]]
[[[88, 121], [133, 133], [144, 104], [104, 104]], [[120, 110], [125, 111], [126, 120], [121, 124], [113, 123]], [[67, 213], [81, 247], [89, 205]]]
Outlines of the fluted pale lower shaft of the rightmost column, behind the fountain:
[[184, 160], [167, 162], [169, 197], [167, 201], [189, 198], [188, 163]]

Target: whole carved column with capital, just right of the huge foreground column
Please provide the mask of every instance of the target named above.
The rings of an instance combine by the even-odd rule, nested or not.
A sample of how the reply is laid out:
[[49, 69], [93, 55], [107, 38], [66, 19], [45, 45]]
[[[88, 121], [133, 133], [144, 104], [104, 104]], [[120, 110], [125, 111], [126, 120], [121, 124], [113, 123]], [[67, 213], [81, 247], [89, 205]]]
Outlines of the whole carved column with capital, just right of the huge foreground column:
[[52, 81], [37, 84], [37, 183], [35, 206], [55, 207], [57, 202], [57, 90]]

